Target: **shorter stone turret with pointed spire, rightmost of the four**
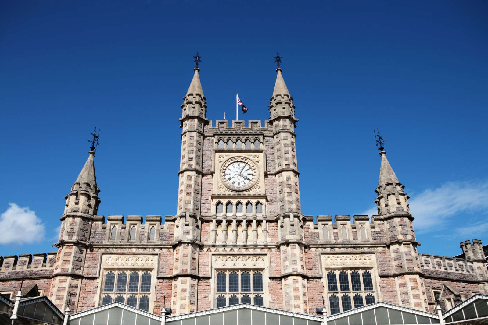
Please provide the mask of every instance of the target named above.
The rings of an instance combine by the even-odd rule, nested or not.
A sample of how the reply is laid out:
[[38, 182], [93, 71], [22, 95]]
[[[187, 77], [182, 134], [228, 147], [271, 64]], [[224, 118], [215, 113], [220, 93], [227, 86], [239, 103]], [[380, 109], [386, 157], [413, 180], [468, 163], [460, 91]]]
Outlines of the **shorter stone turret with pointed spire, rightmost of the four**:
[[373, 219], [384, 224], [386, 248], [389, 249], [392, 265], [391, 270], [380, 270], [380, 277], [394, 279], [399, 305], [427, 310], [426, 289], [417, 252], [419, 243], [415, 240], [414, 218], [410, 214], [408, 195], [388, 163], [386, 152], [382, 151], [380, 155], [380, 177], [375, 190], [379, 215], [373, 216]]

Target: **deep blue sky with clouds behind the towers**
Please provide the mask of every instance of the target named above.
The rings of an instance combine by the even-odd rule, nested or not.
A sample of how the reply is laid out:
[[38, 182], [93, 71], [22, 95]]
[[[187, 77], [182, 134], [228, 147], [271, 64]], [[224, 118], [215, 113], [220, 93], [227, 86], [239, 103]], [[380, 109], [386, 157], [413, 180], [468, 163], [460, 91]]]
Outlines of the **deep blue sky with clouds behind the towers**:
[[380, 156], [419, 251], [488, 244], [486, 1], [1, 1], [0, 255], [53, 251], [88, 157], [99, 214], [176, 213], [181, 104], [202, 56], [207, 118], [266, 120], [283, 57], [302, 213], [374, 212]]

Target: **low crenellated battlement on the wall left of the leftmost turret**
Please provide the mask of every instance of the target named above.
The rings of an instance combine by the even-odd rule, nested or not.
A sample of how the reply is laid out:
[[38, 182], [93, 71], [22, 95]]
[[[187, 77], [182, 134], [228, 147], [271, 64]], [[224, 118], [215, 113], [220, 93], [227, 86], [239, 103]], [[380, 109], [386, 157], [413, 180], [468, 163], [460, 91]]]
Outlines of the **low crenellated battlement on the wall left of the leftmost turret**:
[[0, 256], [0, 272], [54, 269], [58, 252]]

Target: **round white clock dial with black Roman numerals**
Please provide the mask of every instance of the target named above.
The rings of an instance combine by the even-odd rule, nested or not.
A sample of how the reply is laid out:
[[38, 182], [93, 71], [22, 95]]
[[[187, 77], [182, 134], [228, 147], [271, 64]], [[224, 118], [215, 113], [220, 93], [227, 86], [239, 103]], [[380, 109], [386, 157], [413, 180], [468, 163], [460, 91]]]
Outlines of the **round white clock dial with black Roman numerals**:
[[235, 191], [243, 191], [256, 183], [256, 167], [247, 160], [233, 158], [224, 163], [222, 178], [226, 187]]

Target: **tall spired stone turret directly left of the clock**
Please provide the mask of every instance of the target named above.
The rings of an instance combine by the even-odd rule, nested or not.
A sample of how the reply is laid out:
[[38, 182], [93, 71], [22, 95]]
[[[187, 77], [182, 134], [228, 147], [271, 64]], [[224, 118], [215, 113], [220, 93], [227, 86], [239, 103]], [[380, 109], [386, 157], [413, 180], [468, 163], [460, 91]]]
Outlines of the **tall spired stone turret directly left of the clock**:
[[201, 197], [203, 176], [203, 126], [206, 115], [206, 98], [198, 72], [183, 98], [181, 127], [182, 152], [179, 172], [178, 209], [175, 220], [173, 247], [173, 296], [172, 308], [176, 314], [197, 310], [198, 256], [201, 240]]

